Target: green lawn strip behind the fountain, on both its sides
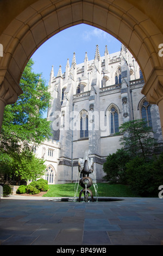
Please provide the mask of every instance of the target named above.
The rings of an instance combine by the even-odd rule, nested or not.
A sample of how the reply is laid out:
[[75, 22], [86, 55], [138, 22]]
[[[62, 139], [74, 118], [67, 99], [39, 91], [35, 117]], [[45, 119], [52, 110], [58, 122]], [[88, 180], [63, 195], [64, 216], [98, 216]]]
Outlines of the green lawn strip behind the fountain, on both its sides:
[[[121, 184], [108, 184], [98, 183], [98, 197], [135, 197], [135, 194], [130, 190], [127, 185]], [[77, 184], [60, 184], [60, 185], [49, 185], [49, 191], [43, 195], [43, 197], [74, 197], [74, 191], [77, 188]], [[93, 196], [96, 196], [96, 192], [93, 186], [91, 186]], [[79, 196], [79, 192], [82, 187], [78, 187], [76, 196]], [[82, 195], [83, 196], [83, 195]]]

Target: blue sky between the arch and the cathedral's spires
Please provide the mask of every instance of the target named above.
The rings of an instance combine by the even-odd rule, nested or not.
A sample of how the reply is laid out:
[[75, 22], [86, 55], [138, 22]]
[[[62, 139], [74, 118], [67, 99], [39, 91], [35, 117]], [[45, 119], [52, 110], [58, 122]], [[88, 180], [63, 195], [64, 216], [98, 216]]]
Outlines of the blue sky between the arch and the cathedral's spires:
[[105, 45], [109, 53], [121, 50], [121, 42], [101, 29], [85, 24], [67, 28], [47, 40], [33, 54], [33, 71], [42, 73], [42, 78], [48, 84], [52, 65], [56, 76], [60, 65], [62, 72], [65, 72], [67, 59], [71, 65], [74, 52], [77, 64], [84, 62], [85, 52], [89, 60], [94, 59], [96, 45], [99, 46], [101, 56], [104, 56]]

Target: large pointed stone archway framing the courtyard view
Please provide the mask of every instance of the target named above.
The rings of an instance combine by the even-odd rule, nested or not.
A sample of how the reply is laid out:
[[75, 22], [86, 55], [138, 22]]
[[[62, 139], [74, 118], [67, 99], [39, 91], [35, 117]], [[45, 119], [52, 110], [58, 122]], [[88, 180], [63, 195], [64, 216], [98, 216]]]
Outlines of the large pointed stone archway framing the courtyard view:
[[115, 36], [133, 54], [145, 80], [142, 93], [159, 106], [163, 130], [161, 0], [2, 0], [0, 10], [0, 127], [4, 106], [22, 93], [19, 81], [32, 54], [51, 36], [85, 23]]

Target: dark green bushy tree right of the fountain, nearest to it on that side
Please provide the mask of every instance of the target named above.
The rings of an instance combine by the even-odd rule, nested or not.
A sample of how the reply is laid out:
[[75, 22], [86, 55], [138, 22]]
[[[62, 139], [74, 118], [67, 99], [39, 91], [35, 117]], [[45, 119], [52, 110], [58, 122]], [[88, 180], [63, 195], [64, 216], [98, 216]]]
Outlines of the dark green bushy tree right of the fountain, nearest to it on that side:
[[124, 149], [118, 149], [116, 153], [109, 154], [103, 164], [103, 170], [106, 173], [103, 179], [126, 184], [126, 163], [129, 160], [130, 156]]

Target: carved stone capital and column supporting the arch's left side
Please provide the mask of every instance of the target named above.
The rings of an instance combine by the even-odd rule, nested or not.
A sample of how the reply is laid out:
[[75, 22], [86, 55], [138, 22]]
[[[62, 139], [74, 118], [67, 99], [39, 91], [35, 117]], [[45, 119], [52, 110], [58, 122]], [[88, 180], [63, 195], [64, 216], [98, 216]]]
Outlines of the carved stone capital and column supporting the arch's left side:
[[7, 70], [0, 70], [0, 133], [3, 122], [4, 107], [15, 103], [23, 91]]

